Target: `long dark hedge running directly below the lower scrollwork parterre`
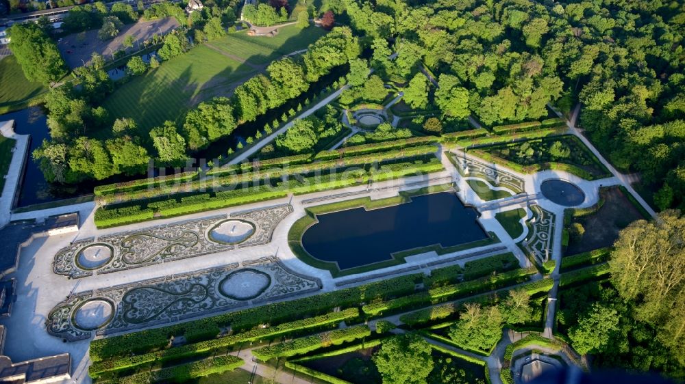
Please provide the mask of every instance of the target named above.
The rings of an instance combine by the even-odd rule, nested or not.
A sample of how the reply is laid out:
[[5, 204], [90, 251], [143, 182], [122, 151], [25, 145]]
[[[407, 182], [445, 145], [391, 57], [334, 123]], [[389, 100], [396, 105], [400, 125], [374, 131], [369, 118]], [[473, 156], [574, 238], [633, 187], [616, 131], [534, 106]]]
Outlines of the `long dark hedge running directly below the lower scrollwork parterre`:
[[211, 321], [219, 327], [230, 326], [234, 332], [252, 329], [265, 323], [279, 324], [316, 316], [334, 307], [357, 307], [359, 303], [376, 299], [390, 299], [414, 292], [416, 282], [421, 281], [423, 273], [404, 275], [385, 279], [379, 282], [364, 284], [352, 288], [316, 294], [302, 299], [281, 301], [252, 307], [246, 310], [212, 316], [210, 318], [189, 321], [169, 327], [147, 329], [93, 340], [90, 342], [90, 359], [101, 361], [113, 357], [122, 357], [130, 353], [145, 353], [169, 345], [172, 336], [184, 335], [186, 329]]

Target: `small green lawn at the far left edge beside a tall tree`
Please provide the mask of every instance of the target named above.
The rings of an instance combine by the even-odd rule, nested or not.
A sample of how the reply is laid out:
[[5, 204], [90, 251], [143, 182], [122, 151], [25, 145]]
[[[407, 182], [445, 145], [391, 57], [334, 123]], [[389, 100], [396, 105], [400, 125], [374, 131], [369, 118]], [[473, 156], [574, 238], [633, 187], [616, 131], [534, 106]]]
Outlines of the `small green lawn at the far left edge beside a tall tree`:
[[0, 113], [21, 109], [45, 92], [45, 85], [26, 79], [14, 55], [0, 60]]

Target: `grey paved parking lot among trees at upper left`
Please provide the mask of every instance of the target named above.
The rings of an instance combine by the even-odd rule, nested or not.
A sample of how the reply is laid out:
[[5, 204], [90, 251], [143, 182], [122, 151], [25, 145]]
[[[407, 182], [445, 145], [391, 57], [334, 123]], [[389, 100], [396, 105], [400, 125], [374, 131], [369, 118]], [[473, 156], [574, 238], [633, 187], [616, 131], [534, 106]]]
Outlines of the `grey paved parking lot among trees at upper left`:
[[62, 57], [69, 65], [69, 68], [77, 68], [88, 64], [90, 55], [97, 52], [106, 59], [112, 59], [114, 52], [124, 49], [123, 41], [126, 36], [132, 35], [137, 42], [134, 43], [133, 48], [127, 48], [127, 51], [137, 51], [138, 43], [142, 46], [145, 40], [150, 40], [152, 36], [157, 33], [164, 35], [169, 31], [178, 27], [179, 24], [175, 18], [160, 18], [151, 21], [138, 21], [135, 24], [124, 25], [119, 32], [119, 35], [112, 40], [101, 41], [97, 38], [97, 29], [86, 31], [82, 33], [74, 33], [72, 35], [62, 38], [57, 46], [62, 53]]

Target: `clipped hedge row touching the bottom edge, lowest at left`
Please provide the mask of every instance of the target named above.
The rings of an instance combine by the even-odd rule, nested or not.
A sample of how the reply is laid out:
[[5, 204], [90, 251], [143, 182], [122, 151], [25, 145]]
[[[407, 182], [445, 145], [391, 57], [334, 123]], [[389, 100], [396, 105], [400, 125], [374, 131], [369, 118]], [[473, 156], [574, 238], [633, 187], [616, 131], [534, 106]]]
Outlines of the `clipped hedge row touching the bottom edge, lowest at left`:
[[151, 372], [142, 372], [132, 376], [125, 376], [119, 379], [119, 383], [148, 384], [170, 380], [174, 383], [182, 383], [197, 377], [234, 370], [236, 368], [240, 368], [242, 364], [245, 364], [245, 361], [242, 361], [240, 357], [230, 355], [219, 356], [211, 359], [194, 361], [181, 366], [164, 368]]

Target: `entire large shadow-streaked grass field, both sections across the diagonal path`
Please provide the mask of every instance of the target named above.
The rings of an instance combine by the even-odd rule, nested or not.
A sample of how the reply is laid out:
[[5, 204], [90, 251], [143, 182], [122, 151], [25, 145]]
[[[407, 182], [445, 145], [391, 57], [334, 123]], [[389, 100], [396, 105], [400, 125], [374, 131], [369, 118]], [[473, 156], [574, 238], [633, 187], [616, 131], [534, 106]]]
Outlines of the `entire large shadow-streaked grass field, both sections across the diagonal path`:
[[[258, 72], [256, 64], [304, 49], [323, 33], [314, 27], [301, 31], [294, 25], [284, 27], [275, 38], [231, 33], [210, 42], [225, 54], [205, 45], [196, 46], [160, 68], [132, 79], [107, 98], [103, 107], [110, 112], [112, 120], [136, 120], [140, 136], [147, 137], [151, 128], [164, 120], [179, 121], [199, 102], [231, 94], [234, 87]], [[247, 63], [227, 55], [245, 59]], [[100, 139], [109, 135], [108, 131], [95, 133]]]

